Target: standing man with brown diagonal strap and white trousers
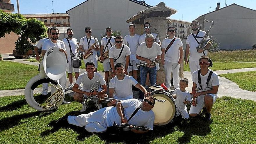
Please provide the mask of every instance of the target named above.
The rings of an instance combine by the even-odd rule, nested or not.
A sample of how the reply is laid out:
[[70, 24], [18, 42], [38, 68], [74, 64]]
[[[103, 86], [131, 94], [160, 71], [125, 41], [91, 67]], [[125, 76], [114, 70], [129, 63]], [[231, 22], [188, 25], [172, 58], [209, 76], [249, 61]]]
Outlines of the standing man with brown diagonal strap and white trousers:
[[[168, 28], [168, 38], [162, 42], [162, 64], [165, 71], [165, 84], [171, 86], [171, 73], [173, 72], [173, 86], [179, 88], [179, 64], [182, 63], [183, 49], [182, 41], [174, 36], [175, 28]], [[169, 46], [171, 45], [171, 46]]]

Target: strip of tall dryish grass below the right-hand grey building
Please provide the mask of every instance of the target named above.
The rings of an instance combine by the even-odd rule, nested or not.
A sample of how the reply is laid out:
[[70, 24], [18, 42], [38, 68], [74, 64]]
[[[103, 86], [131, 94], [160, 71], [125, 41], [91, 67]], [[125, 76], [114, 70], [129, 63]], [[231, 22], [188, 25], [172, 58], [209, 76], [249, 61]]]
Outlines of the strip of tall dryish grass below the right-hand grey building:
[[256, 49], [209, 52], [212, 61], [256, 61]]

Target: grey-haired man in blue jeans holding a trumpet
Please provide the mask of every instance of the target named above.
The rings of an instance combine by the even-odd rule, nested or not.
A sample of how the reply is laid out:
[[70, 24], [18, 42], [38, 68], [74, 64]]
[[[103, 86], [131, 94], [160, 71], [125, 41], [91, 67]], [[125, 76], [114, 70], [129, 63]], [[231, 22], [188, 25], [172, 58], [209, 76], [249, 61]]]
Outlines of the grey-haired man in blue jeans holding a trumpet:
[[[157, 67], [152, 64], [152, 61], [161, 58], [161, 47], [158, 43], [154, 42], [154, 36], [147, 34], [145, 42], [138, 46], [136, 51], [136, 58], [141, 63], [147, 63], [147, 66], [140, 66], [141, 85], [145, 87], [147, 73], [149, 73], [150, 84], [154, 86], [157, 81]], [[142, 91], [139, 91], [139, 99], [143, 99]]]

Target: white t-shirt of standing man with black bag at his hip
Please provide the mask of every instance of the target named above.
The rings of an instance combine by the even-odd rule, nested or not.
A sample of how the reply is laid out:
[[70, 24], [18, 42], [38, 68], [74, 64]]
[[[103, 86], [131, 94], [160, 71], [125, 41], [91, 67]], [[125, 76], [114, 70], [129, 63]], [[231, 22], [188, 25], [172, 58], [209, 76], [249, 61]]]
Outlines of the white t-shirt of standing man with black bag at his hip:
[[[77, 52], [77, 39], [76, 38], [72, 38], [72, 40], [68, 39], [70, 42], [70, 46], [71, 46], [71, 50], [72, 50], [72, 54], [74, 54], [75, 56], [78, 56], [78, 52]], [[67, 49], [67, 59], [70, 60], [71, 56], [70, 56], [70, 48], [69, 48], [69, 44], [67, 42], [66, 38], [63, 38], [62, 40], [65, 44], [65, 47]]]

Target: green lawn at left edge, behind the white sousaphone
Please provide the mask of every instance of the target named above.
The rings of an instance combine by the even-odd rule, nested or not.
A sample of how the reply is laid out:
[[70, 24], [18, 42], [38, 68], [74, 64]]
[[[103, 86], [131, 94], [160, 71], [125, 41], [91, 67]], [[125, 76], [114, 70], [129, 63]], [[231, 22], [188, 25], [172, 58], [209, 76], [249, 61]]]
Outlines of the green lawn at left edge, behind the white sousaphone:
[[37, 74], [38, 66], [0, 61], [0, 90], [25, 88], [28, 81]]

